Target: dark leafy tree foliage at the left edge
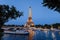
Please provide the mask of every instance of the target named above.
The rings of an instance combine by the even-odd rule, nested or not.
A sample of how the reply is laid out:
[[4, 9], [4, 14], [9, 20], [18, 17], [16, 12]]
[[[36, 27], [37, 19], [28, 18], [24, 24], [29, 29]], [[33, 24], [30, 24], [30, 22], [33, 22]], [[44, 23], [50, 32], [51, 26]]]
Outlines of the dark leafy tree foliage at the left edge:
[[22, 12], [17, 11], [14, 6], [0, 5], [0, 30], [9, 19], [16, 19], [20, 16], [22, 16]]

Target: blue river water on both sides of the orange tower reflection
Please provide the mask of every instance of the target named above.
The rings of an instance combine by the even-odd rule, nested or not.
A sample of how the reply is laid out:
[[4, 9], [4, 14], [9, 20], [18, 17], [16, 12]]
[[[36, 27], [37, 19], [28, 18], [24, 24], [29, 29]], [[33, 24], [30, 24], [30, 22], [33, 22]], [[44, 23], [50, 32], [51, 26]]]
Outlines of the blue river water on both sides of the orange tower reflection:
[[[2, 40], [30, 40], [29, 35], [12, 35], [4, 34]], [[34, 31], [34, 36], [32, 40], [60, 40], [60, 30], [59, 31]]]

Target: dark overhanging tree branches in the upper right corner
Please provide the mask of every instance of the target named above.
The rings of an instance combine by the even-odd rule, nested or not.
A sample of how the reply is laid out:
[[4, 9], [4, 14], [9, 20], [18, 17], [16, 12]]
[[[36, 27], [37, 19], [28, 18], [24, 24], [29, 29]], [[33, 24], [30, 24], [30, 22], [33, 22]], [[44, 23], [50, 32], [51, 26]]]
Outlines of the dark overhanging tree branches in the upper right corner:
[[43, 0], [42, 4], [60, 13], [60, 0]]

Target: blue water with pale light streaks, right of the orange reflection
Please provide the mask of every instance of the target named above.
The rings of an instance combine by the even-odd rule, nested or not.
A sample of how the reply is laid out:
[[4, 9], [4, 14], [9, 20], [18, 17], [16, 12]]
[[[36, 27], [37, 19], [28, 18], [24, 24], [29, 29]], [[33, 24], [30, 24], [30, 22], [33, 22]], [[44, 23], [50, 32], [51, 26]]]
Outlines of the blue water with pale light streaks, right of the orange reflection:
[[34, 40], [60, 40], [60, 31], [36, 31], [34, 35]]

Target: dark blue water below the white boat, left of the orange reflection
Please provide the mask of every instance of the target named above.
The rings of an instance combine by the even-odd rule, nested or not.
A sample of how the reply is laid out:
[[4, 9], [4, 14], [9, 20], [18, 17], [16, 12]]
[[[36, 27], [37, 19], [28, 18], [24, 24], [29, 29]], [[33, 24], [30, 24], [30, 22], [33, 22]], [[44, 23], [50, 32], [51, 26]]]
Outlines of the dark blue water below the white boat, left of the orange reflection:
[[3, 40], [28, 40], [28, 35], [4, 34]]

